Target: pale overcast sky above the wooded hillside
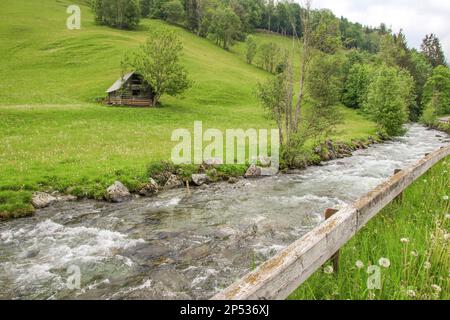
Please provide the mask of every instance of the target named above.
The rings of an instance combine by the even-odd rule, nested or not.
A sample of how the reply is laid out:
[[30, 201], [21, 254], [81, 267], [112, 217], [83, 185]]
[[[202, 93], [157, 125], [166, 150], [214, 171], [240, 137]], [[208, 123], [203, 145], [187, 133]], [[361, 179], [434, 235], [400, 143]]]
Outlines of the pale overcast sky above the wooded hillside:
[[313, 0], [313, 7], [331, 9], [338, 17], [363, 25], [384, 22], [395, 32], [403, 29], [415, 48], [425, 34], [434, 33], [450, 60], [450, 0]]

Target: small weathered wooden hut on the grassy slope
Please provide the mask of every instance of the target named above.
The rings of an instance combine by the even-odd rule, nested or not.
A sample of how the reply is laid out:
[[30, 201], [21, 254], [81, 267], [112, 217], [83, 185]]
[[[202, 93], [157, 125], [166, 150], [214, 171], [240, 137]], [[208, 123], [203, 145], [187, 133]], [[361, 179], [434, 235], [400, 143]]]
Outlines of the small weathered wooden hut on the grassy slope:
[[107, 103], [123, 106], [153, 106], [153, 90], [144, 78], [130, 72], [118, 79], [107, 91]]

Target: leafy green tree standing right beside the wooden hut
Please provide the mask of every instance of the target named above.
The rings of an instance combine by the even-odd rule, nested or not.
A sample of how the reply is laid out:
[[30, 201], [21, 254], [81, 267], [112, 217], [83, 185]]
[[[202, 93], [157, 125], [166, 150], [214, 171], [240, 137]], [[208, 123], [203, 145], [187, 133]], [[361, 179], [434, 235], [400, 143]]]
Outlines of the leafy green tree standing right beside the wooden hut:
[[178, 96], [191, 87], [192, 82], [180, 64], [183, 45], [172, 30], [152, 30], [145, 44], [128, 59], [128, 65], [140, 73], [153, 90], [153, 104], [161, 96]]

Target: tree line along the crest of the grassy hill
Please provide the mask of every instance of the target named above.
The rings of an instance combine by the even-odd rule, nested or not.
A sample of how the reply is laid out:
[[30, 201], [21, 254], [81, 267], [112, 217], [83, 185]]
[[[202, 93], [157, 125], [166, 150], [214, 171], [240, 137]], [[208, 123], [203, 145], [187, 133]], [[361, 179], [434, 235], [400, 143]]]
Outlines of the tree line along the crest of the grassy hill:
[[[256, 29], [281, 35], [303, 36], [304, 8], [289, 0], [91, 0], [96, 22], [120, 29], [133, 29], [139, 19], [155, 18], [176, 24], [228, 49]], [[316, 28], [326, 19], [337, 31], [333, 41], [347, 49], [376, 53], [381, 37], [391, 31], [385, 24], [372, 28], [336, 17], [330, 10], [311, 10]]]

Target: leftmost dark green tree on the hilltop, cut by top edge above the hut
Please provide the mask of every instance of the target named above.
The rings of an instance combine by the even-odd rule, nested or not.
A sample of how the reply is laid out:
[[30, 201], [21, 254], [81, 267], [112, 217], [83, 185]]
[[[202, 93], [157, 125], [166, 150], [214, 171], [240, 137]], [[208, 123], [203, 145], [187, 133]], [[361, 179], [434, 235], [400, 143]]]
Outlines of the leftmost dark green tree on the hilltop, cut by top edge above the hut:
[[137, 0], [93, 0], [95, 22], [118, 29], [133, 29], [139, 24]]

